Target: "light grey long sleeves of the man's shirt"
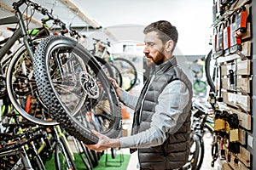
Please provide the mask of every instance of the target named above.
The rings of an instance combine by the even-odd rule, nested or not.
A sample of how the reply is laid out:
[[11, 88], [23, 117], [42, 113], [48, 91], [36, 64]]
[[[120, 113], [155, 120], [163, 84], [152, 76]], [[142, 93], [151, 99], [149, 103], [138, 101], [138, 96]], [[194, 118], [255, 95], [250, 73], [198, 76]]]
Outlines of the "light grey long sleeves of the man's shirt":
[[[124, 92], [120, 99], [134, 109], [138, 97]], [[170, 82], [159, 96], [150, 128], [132, 136], [121, 137], [121, 148], [148, 148], [162, 144], [167, 138], [166, 132], [172, 132], [175, 128], [177, 118], [188, 102], [189, 89], [186, 85], [179, 80]]]

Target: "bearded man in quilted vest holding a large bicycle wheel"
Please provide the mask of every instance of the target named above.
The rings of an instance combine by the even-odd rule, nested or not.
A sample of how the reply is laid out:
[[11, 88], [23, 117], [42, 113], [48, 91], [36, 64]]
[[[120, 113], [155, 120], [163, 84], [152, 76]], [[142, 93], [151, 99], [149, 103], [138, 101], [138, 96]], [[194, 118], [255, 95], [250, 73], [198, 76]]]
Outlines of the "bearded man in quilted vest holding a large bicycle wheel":
[[140, 169], [178, 169], [188, 161], [192, 86], [172, 55], [177, 30], [166, 20], [146, 26], [143, 53], [150, 67], [137, 98], [125, 92], [110, 78], [119, 99], [135, 110], [131, 136], [109, 139], [97, 133], [91, 150], [111, 147], [138, 151]]

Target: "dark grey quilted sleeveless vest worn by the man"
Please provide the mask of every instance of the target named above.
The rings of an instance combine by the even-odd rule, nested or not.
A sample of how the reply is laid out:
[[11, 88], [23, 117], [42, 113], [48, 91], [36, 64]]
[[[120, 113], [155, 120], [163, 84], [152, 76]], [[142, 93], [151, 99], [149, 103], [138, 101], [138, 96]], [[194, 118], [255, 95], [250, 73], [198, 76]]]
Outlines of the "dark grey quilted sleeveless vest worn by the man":
[[[174, 80], [184, 82], [187, 88], [189, 88], [190, 99], [183, 110], [183, 114], [177, 120], [175, 131], [167, 133], [168, 138], [164, 144], [147, 149], [138, 149], [141, 169], [176, 169], [182, 167], [189, 157], [192, 85], [189, 78], [177, 65], [177, 59], [174, 56], [162, 65], [155, 67], [151, 71], [150, 77], [152, 75], [154, 75], [154, 80], [150, 84], [148, 92], [145, 94], [147, 91], [145, 85], [138, 99], [131, 134], [139, 133], [149, 128], [155, 105], [158, 102], [157, 99], [168, 83]], [[143, 96], [145, 99], [142, 113], [140, 113]]]

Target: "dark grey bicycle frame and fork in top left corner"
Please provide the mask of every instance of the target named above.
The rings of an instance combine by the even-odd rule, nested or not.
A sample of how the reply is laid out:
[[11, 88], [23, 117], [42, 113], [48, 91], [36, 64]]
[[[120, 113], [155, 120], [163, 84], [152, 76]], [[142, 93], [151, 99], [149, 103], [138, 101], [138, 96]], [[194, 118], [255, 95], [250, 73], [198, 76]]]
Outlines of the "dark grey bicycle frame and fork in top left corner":
[[3, 56], [9, 51], [15, 42], [20, 38], [23, 37], [23, 42], [26, 47], [28, 54], [31, 56], [32, 60], [34, 59], [34, 54], [32, 52], [32, 48], [30, 46], [30, 37], [27, 35], [26, 26], [24, 20], [22, 19], [22, 14], [20, 13], [20, 5], [23, 4], [25, 1], [21, 0], [19, 3], [15, 3], [15, 16], [5, 17], [0, 19], [0, 26], [8, 25], [8, 24], [18, 24], [19, 28], [14, 32], [12, 37], [9, 37], [9, 40], [0, 48], [0, 59], [3, 59]]

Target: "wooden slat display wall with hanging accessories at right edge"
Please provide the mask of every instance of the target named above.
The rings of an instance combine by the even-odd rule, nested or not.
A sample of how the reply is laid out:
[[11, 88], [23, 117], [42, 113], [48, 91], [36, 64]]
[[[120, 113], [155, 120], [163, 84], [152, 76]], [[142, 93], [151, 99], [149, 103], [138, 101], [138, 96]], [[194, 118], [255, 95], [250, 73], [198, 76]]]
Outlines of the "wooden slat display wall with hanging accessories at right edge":
[[[247, 12], [247, 31], [236, 37], [241, 38], [241, 49], [232, 48], [233, 51], [235, 50], [233, 54], [224, 53], [218, 57], [218, 63], [221, 66], [220, 96], [223, 98], [225, 111], [228, 111], [230, 114], [236, 113], [239, 119], [239, 138], [236, 141], [239, 143], [239, 151], [238, 153], [233, 153], [228, 148], [224, 148], [225, 157], [224, 160], [221, 161], [221, 168], [224, 170], [256, 169], [256, 156], [254, 156], [254, 153], [256, 153], [256, 120], [253, 118], [256, 114], [256, 105], [254, 105], [256, 90], [253, 88], [256, 85], [254, 79], [256, 74], [256, 36], [253, 34], [253, 24], [255, 25], [256, 23], [256, 4], [254, 0], [216, 0], [213, 1], [213, 8], [217, 9], [217, 11], [212, 10], [213, 18], [214, 12], [216, 12], [217, 15], [219, 14], [218, 10], [220, 10], [224, 2], [232, 2], [230, 10], [225, 11], [224, 9], [224, 13], [220, 14], [218, 19], [221, 19], [221, 17], [228, 12], [237, 11], [238, 13], [237, 16], [235, 16], [235, 20], [233, 20], [233, 17], [231, 18], [233, 14], [231, 14], [230, 17], [223, 17], [222, 19], [224, 20], [232, 20], [230, 20], [230, 25], [226, 25], [223, 28], [220, 28], [220, 25], [217, 24], [219, 26], [217, 26], [217, 32], [223, 31], [227, 26], [231, 27], [233, 22], [241, 22], [241, 20], [237, 20], [240, 19], [238, 14], [241, 13], [241, 11]], [[213, 20], [213, 22], [214, 21], [216, 20]], [[220, 23], [220, 20], [217, 22]], [[214, 24], [216, 23], [212, 25]], [[234, 31], [233, 33], [237, 32]], [[212, 38], [214, 38], [214, 35], [216, 35], [216, 32], [212, 33]], [[230, 36], [233, 35], [234, 34], [231, 34]], [[239, 42], [236, 42], [235, 45], [238, 44]], [[214, 45], [215, 44], [212, 43], [212, 49]], [[235, 47], [235, 45], [233, 47]], [[218, 55], [218, 53], [216, 54]], [[235, 72], [235, 84], [230, 84], [230, 69]]]

